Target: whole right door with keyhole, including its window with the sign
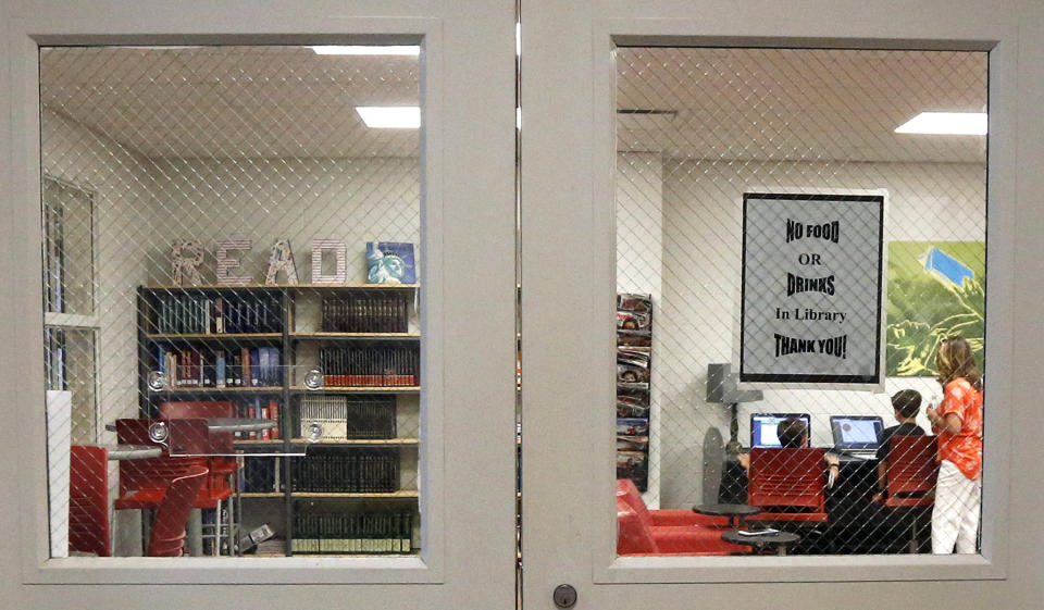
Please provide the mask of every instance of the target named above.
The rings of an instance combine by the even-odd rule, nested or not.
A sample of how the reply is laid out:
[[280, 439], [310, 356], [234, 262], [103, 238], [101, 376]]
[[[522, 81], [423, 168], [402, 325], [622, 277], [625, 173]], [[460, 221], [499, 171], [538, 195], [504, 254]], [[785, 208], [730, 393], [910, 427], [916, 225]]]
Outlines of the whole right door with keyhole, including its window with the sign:
[[[575, 608], [597, 609], [1040, 606], [1040, 553], [1028, 541], [1041, 533], [1028, 489], [1042, 474], [1040, 451], [1033, 435], [1012, 424], [1034, 419], [1029, 388], [1042, 356], [1033, 322], [1042, 289], [1034, 194], [1042, 185], [1027, 171], [1044, 154], [1040, 104], [1031, 101], [1042, 97], [1042, 78], [1032, 60], [1026, 63], [1044, 52], [1042, 16], [1032, 3], [998, 2], [523, 7], [525, 607], [556, 608], [559, 585], [573, 588]], [[987, 104], [989, 136], [895, 133], [922, 111], [981, 114]], [[787, 300], [783, 279], [781, 294], [769, 296], [783, 303], [781, 326], [807, 324], [819, 337], [855, 333], [853, 312], [869, 308], [870, 320], [881, 322], [862, 348], [870, 349], [877, 388], [718, 386], [710, 364], [731, 365], [733, 375], [751, 372], [750, 361], [741, 360], [754, 347], [741, 349], [739, 326], [749, 314], [743, 307], [756, 303], [742, 301], [754, 296], [744, 283], [751, 276], [743, 274], [744, 248], [753, 247], [745, 239], [756, 238], [744, 232], [744, 194], [813, 201], [868, 191], [885, 203], [883, 224], [863, 228], [871, 240], [881, 238], [871, 267], [887, 291], [875, 292], [871, 273], [865, 300], [845, 306], [847, 325], [837, 316], [842, 308], [826, 307], [832, 289], [812, 314]], [[947, 250], [964, 261], [954, 269], [967, 277], [939, 273], [930, 254]], [[803, 260], [795, 269], [826, 259]], [[911, 283], [902, 282], [904, 265], [912, 265]], [[989, 289], [980, 289], [974, 282], [986, 267]], [[812, 269], [804, 277], [828, 275]], [[945, 288], [930, 307], [977, 294], [987, 296], [989, 315], [983, 320], [980, 303], [962, 310], [972, 315], [967, 326], [941, 325], [931, 315], [912, 320], [902, 298], [920, 282], [932, 294]], [[613, 292], [645, 298], [618, 300]], [[878, 316], [880, 308], [887, 316]], [[828, 334], [826, 324], [837, 331]], [[874, 340], [874, 328], [884, 341]], [[907, 340], [904, 328], [925, 336]], [[771, 439], [751, 439], [758, 413], [807, 418], [801, 426], [811, 427], [812, 447], [834, 455], [831, 415], [893, 426], [890, 395], [915, 389], [923, 404], [913, 423], [930, 427], [925, 408], [943, 396], [933, 350], [953, 334], [975, 344], [980, 362], [981, 350], [989, 353], [977, 552], [908, 555], [908, 525], [867, 532], [888, 515], [844, 511], [872, 507], [881, 480], [875, 461], [849, 455], [841, 457], [835, 487], [824, 491], [821, 522], [813, 510], [780, 515], [775, 527], [800, 537], [786, 545], [788, 557], [770, 553], [782, 537], [770, 536], [763, 552], [722, 543], [729, 530], [750, 531], [757, 521], [736, 527], [695, 515], [697, 505], [754, 503], [747, 493], [756, 466], [748, 475], [739, 453], [778, 433], [773, 423], [765, 428]], [[811, 344], [780, 345], [775, 356], [791, 358]], [[922, 347], [931, 349], [917, 351]], [[824, 353], [836, 368], [811, 374], [841, 368], [836, 352]], [[875, 354], [886, 356], [882, 369]], [[644, 491], [638, 501], [646, 508], [667, 511], [641, 519], [648, 530], [624, 531], [639, 512], [614, 500], [614, 481], [627, 478]], [[813, 523], [798, 527], [796, 518]], [[917, 540], [924, 545], [930, 512], [921, 519]]]

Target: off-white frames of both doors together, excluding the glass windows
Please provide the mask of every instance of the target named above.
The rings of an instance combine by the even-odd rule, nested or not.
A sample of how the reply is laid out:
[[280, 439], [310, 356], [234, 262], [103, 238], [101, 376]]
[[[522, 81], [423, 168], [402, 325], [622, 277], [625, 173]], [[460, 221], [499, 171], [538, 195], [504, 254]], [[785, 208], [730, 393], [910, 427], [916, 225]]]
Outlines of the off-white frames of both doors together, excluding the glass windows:
[[[512, 2], [249, 2], [172, 5], [98, 0], [4, 0], [10, 62], [0, 94], [5, 132], [4, 345], [33, 340], [12, 312], [35, 308], [20, 290], [38, 283], [39, 45], [400, 42], [423, 48], [422, 206], [427, 252], [427, 419], [421, 475], [424, 550], [418, 558], [344, 562], [289, 558], [138, 564], [47, 559], [40, 481], [9, 470], [0, 518], [2, 589], [9, 608], [556, 608], [569, 585], [575, 608], [1036, 608], [1044, 600], [1044, 523], [1027, 481], [1044, 477], [1012, 421], [1035, 421], [1030, 388], [1044, 360], [1034, 322], [1044, 291], [1036, 238], [1044, 191], [1044, 10], [1034, 2], [916, 7], [828, 0], [589, 2], [521, 5], [521, 108], [515, 130]], [[977, 49], [991, 51], [989, 322], [995, 440], [986, 485], [983, 555], [915, 558], [616, 557], [613, 329], [616, 291], [616, 46]], [[1016, 58], [1019, 58], [1018, 62]], [[1026, 58], [1024, 60], [1022, 58]], [[1017, 99], [1030, 100], [1018, 103]], [[1018, 125], [1018, 129], [1016, 129]], [[517, 137], [521, 157], [517, 159]], [[520, 167], [521, 276], [515, 277], [515, 172]], [[35, 167], [35, 170], [34, 170]], [[38, 201], [38, 198], [36, 199]], [[1018, 216], [1020, 222], [1015, 223]], [[997, 246], [994, 248], [993, 245]], [[34, 257], [36, 257], [34, 259]], [[36, 261], [36, 262], [34, 262]], [[1021, 265], [1016, 282], [1015, 265]], [[515, 558], [515, 303], [521, 296], [522, 565]], [[38, 287], [35, 288], [38, 290]], [[996, 354], [996, 356], [993, 356]], [[32, 409], [13, 350], [0, 384], [16, 398], [4, 418]], [[29, 419], [28, 423], [35, 420]], [[3, 426], [3, 463], [41, 439]], [[27, 430], [26, 428], [23, 430]], [[1014, 462], [1018, 466], [1012, 466]], [[1017, 476], [1007, 469], [1017, 468]], [[1018, 482], [1008, 486], [1008, 481]], [[27, 524], [16, 528], [13, 524]], [[1020, 533], [1014, 536], [1009, 524]], [[17, 530], [17, 532], [16, 532]], [[521, 574], [521, 576], [520, 576]], [[522, 578], [521, 597], [517, 577]]]

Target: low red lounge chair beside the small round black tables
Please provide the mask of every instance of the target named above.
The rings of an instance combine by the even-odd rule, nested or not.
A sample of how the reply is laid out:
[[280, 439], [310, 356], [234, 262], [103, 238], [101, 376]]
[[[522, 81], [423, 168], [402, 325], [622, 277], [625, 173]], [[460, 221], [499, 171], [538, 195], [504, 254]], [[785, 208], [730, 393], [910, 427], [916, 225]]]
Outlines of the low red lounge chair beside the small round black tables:
[[652, 527], [622, 498], [617, 498], [617, 553], [621, 556], [721, 556], [750, 549], [721, 539], [725, 528]]

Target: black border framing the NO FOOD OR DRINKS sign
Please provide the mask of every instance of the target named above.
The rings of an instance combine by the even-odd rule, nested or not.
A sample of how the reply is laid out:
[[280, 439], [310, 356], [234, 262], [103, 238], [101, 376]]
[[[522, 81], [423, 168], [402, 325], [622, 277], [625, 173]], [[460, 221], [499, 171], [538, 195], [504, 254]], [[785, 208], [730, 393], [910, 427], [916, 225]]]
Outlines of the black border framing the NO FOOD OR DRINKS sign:
[[[881, 383], [881, 328], [884, 273], [884, 195], [847, 195], [822, 192], [744, 192], [743, 194], [743, 271], [739, 285], [739, 381], [754, 383], [862, 384]], [[873, 373], [870, 375], [749, 373], [744, 371], [744, 325], [746, 323], [747, 289], [747, 202], [749, 199], [788, 199], [805, 201], [866, 201], [877, 203], [878, 211], [878, 309], [874, 333]]]

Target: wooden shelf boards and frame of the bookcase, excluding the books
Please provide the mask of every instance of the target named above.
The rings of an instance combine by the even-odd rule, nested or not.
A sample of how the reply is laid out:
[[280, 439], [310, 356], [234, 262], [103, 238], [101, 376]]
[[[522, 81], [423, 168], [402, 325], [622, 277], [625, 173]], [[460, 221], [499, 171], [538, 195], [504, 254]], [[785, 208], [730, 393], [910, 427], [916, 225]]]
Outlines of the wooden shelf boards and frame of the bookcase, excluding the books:
[[[417, 307], [415, 299], [403, 296], [405, 291], [415, 291], [419, 289], [418, 284], [298, 284], [298, 285], [279, 285], [279, 286], [266, 286], [262, 284], [248, 284], [244, 286], [231, 286], [231, 285], [202, 285], [202, 286], [171, 286], [171, 285], [149, 285], [142, 286], [138, 289], [138, 319], [137, 325], [139, 328], [138, 332], [138, 374], [139, 374], [139, 396], [140, 396], [140, 408], [142, 416], [156, 416], [158, 412], [159, 404], [164, 400], [231, 400], [236, 404], [237, 409], [244, 409], [245, 407], [252, 406], [254, 399], [266, 395], [266, 398], [262, 398], [262, 402], [278, 398], [279, 412], [279, 432], [281, 437], [275, 439], [236, 439], [233, 440], [233, 447], [237, 452], [243, 453], [245, 457], [249, 457], [251, 452], [254, 453], [287, 453], [287, 455], [301, 455], [303, 452], [302, 447], [308, 445], [316, 445], [324, 448], [345, 448], [345, 452], [351, 452], [355, 448], [358, 451], [370, 450], [372, 452], [382, 452], [381, 449], [386, 448], [384, 452], [394, 453], [397, 456], [395, 459], [401, 460], [408, 459], [413, 461], [413, 455], [415, 455], [419, 449], [421, 441], [419, 438], [365, 438], [365, 439], [339, 439], [339, 438], [324, 438], [316, 443], [310, 443], [303, 438], [294, 438], [299, 432], [300, 420], [299, 420], [299, 409], [300, 401], [302, 397], [308, 394], [319, 394], [319, 395], [355, 395], [359, 396], [376, 396], [376, 395], [415, 395], [420, 393], [421, 386], [327, 386], [318, 390], [311, 390], [306, 388], [303, 385], [294, 385], [294, 372], [299, 370], [307, 370], [312, 366], [312, 359], [315, 357], [316, 350], [321, 350], [325, 346], [335, 347], [335, 348], [346, 348], [348, 351], [351, 350], [352, 344], [359, 344], [361, 347], [373, 347], [374, 344], [380, 345], [382, 343], [389, 344], [389, 348], [403, 347], [410, 350], [414, 349], [413, 346], [420, 343], [421, 333], [418, 332], [406, 332], [406, 333], [360, 333], [360, 332], [323, 332], [318, 331], [322, 328], [322, 308], [316, 306], [322, 300], [326, 298], [333, 299], [345, 299], [351, 300], [351, 292], [356, 292], [356, 296], [363, 296], [369, 294], [366, 298], [373, 298], [376, 301], [401, 301], [406, 300], [407, 310], [406, 314], [409, 316], [412, 312], [411, 308]], [[381, 298], [377, 292], [382, 292], [386, 298]], [[393, 297], [395, 292], [398, 296]], [[187, 310], [194, 313], [183, 313], [182, 315], [198, 315], [195, 312], [202, 311], [203, 320], [208, 321], [206, 323], [200, 323], [200, 319], [197, 316], [195, 319], [187, 319], [187, 324], [197, 324], [192, 325], [171, 325], [171, 318], [161, 318], [163, 315], [169, 315], [166, 312], [170, 312], [171, 309], [164, 309], [170, 306], [170, 303], [177, 303], [177, 299], [184, 299], [191, 307], [202, 307], [201, 310]], [[265, 331], [259, 333], [171, 333], [166, 331], [172, 329], [192, 329], [192, 331], [202, 331], [204, 328], [210, 328], [214, 331], [220, 328], [216, 323], [210, 325], [210, 316], [215, 316], [221, 312], [220, 309], [214, 309], [211, 304], [211, 301], [222, 300], [225, 303], [226, 309], [224, 309], [226, 324], [228, 324], [229, 310], [227, 309], [227, 303], [231, 301], [233, 303], [253, 303], [260, 302], [263, 303], [260, 306], [260, 311], [262, 314], [259, 315], [260, 320], [254, 320], [254, 326], [239, 325], [239, 326], [225, 326], [226, 328], [233, 329], [258, 329]], [[192, 304], [197, 303], [197, 304]], [[200, 304], [201, 303], [201, 304]], [[412, 304], [410, 304], [412, 303]], [[181, 307], [181, 306], [178, 306]], [[236, 307], [244, 307], [238, 304]], [[252, 307], [252, 306], [248, 306]], [[186, 311], [186, 310], [182, 310]], [[243, 310], [239, 310], [243, 311]], [[415, 312], [412, 312], [415, 315]], [[273, 318], [273, 315], [275, 318]], [[400, 314], [401, 315], [401, 314]], [[186, 319], [175, 319], [176, 324], [182, 324], [183, 320]], [[238, 324], [238, 318], [235, 319]], [[244, 319], [246, 320], [246, 319]], [[401, 318], [399, 319], [401, 320]], [[408, 318], [409, 320], [409, 318]], [[296, 323], [301, 323], [301, 331], [297, 331]], [[164, 325], [161, 325], [164, 324]], [[244, 324], [248, 324], [245, 322]], [[337, 326], [326, 326], [326, 327], [337, 327]], [[363, 327], [382, 327], [382, 326], [363, 326]], [[399, 326], [384, 326], [384, 327], [397, 327], [402, 328], [401, 324]], [[158, 332], [163, 329], [164, 332]], [[315, 329], [315, 331], [312, 331]], [[181, 387], [170, 387], [163, 390], [152, 390], [148, 381], [153, 371], [160, 370], [158, 361], [160, 357], [157, 353], [163, 353], [163, 350], [166, 352], [177, 351], [177, 350], [187, 350], [192, 352], [198, 352], [203, 354], [208, 361], [200, 362], [200, 365], [204, 366], [216, 366], [213, 361], [210, 361], [210, 357], [216, 352], [216, 350], [227, 350], [228, 346], [233, 346], [236, 341], [243, 343], [245, 347], [254, 348], [259, 350], [261, 348], [275, 347], [279, 350], [279, 361], [278, 364], [289, 370], [282, 370], [278, 372], [278, 376], [274, 377], [274, 381], [282, 381], [283, 385], [265, 385], [265, 386], [239, 386], [239, 387], [199, 387], [199, 386], [181, 386]], [[162, 348], [162, 349], [161, 349]], [[211, 354], [211, 356], [207, 356]], [[419, 372], [419, 371], [418, 371]], [[202, 376], [202, 375], [201, 375]], [[300, 378], [300, 377], [298, 377]], [[269, 383], [272, 383], [271, 381]], [[357, 402], [360, 399], [357, 399]], [[370, 400], [370, 399], [361, 399]], [[391, 401], [391, 398], [386, 398], [386, 400]], [[395, 399], [397, 404], [401, 404], [401, 398]], [[415, 400], [407, 399], [409, 404], [414, 404]], [[351, 398], [348, 399], [351, 402]], [[264, 407], [264, 404], [261, 404]], [[415, 412], [417, 407], [411, 407]], [[260, 415], [259, 415], [260, 416]], [[413, 416], [412, 414], [409, 416]], [[393, 428], [394, 430], [394, 428]], [[415, 430], [415, 428], [414, 428]], [[391, 434], [395, 434], [394, 432]], [[332, 449], [335, 452], [340, 452], [337, 449]], [[408, 457], [401, 457], [402, 453], [406, 453]], [[295, 523], [295, 513], [298, 511], [309, 510], [306, 506], [307, 502], [302, 503], [299, 500], [335, 500], [335, 499], [347, 499], [347, 500], [371, 500], [374, 502], [388, 501], [388, 502], [413, 502], [412, 509], [407, 509], [413, 513], [413, 519], [417, 519], [417, 509], [415, 503], [420, 497], [417, 489], [401, 489], [397, 491], [389, 493], [338, 493], [338, 491], [275, 491], [272, 489], [272, 484], [266, 481], [264, 477], [272, 477], [273, 473], [271, 468], [276, 468], [274, 476], [276, 481], [282, 481], [283, 484], [288, 488], [293, 488], [295, 481], [294, 476], [296, 472], [293, 464], [294, 460], [307, 460], [308, 457], [303, 458], [283, 458], [279, 459], [277, 456], [264, 456], [257, 459], [271, 459], [274, 460], [273, 466], [264, 466], [261, 471], [262, 474], [254, 474], [256, 476], [261, 476], [262, 478], [251, 480], [252, 489], [261, 489], [257, 491], [243, 491], [239, 494], [239, 497], [243, 498], [246, 503], [246, 510], [250, 510], [250, 502], [257, 502], [257, 510], [260, 511], [271, 511], [275, 507], [279, 507], [279, 511], [284, 521], [282, 523], [273, 522], [279, 537], [285, 537], [286, 540], [286, 553], [273, 553], [274, 556], [290, 556], [295, 555], [289, 551], [291, 548], [290, 545], [294, 540], [294, 523]], [[253, 475], [252, 475], [253, 476]], [[412, 485], [410, 482], [406, 482], [407, 485]], [[265, 490], [268, 489], [268, 490]], [[368, 555], [368, 553], [360, 553]]]

